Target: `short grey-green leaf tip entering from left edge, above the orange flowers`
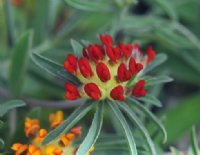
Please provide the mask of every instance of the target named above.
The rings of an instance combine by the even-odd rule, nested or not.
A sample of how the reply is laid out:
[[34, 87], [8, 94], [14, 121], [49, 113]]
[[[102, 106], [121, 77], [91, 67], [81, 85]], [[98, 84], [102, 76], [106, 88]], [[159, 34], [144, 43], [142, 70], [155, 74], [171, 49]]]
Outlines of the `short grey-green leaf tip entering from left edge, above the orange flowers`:
[[26, 104], [21, 100], [11, 100], [7, 101], [5, 103], [0, 104], [0, 117], [4, 116], [9, 110], [17, 108], [17, 107], [23, 107]]

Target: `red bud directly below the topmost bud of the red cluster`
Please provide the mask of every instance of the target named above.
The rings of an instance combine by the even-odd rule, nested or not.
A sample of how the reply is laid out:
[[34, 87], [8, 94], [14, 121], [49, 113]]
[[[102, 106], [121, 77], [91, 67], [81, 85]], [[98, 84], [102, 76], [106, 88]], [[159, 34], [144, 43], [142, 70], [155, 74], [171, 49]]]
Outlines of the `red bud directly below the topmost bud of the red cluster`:
[[117, 60], [119, 60], [120, 57], [121, 57], [120, 48], [107, 46], [106, 47], [106, 53], [107, 53], [108, 57], [114, 62], [117, 62]]

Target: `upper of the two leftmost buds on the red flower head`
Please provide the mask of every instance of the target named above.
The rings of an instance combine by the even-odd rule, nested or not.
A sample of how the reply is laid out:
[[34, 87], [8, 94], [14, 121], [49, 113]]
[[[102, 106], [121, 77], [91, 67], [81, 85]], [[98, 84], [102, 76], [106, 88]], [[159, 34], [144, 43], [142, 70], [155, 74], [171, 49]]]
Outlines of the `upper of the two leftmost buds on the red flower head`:
[[77, 70], [77, 58], [73, 54], [68, 54], [64, 62], [64, 67], [69, 73], [75, 74]]

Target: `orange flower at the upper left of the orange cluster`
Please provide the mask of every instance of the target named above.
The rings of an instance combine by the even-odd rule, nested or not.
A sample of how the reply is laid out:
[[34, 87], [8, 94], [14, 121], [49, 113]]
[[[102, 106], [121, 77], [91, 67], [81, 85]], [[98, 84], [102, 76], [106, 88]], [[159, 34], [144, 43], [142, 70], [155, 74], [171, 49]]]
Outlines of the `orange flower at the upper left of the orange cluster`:
[[25, 134], [27, 137], [33, 137], [40, 129], [40, 122], [38, 119], [26, 118], [25, 120]]

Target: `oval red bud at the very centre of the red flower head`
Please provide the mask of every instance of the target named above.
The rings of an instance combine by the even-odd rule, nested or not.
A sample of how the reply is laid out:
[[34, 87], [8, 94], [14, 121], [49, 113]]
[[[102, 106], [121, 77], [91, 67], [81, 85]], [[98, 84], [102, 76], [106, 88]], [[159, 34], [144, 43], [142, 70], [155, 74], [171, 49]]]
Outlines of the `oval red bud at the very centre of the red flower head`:
[[110, 80], [110, 71], [104, 63], [100, 62], [97, 65], [96, 72], [102, 82]]

